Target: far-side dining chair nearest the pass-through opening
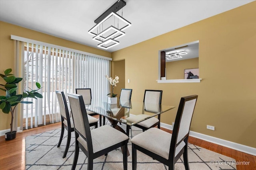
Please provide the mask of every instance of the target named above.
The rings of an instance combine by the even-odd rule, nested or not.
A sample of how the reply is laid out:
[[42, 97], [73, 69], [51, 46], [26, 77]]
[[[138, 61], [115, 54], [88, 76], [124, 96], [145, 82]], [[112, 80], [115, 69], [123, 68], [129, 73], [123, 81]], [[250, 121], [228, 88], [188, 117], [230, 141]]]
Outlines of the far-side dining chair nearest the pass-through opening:
[[[144, 104], [158, 104], [160, 105], [162, 103], [162, 90], [145, 90], [144, 93]], [[158, 129], [160, 129], [160, 115], [158, 115], [158, 118], [151, 117], [149, 119], [146, 119], [144, 121], [141, 121], [140, 123], [135, 124], [134, 126], [142, 129], [143, 131], [150, 129], [151, 127], [155, 127], [157, 125]], [[136, 117], [131, 117], [131, 119], [136, 119]]]

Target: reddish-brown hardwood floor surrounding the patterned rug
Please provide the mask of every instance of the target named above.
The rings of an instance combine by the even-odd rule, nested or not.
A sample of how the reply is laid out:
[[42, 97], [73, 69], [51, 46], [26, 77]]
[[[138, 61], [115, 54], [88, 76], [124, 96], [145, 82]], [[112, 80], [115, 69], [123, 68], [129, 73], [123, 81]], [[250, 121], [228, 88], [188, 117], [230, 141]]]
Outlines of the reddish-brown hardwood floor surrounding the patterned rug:
[[[60, 128], [60, 123], [50, 124], [38, 128], [28, 129], [23, 132], [19, 132], [16, 135], [16, 139], [12, 141], [5, 141], [4, 136], [0, 137], [0, 169], [1, 170], [24, 170], [25, 169], [25, 138], [30, 135], [50, 131]], [[163, 129], [171, 133], [168, 129]], [[199, 147], [218, 152], [220, 154], [232, 157], [236, 161], [242, 164], [243, 161], [250, 162], [249, 165], [236, 165], [237, 170], [256, 170], [256, 156], [239, 152], [237, 150], [229, 149], [189, 137], [189, 143], [197, 145]]]

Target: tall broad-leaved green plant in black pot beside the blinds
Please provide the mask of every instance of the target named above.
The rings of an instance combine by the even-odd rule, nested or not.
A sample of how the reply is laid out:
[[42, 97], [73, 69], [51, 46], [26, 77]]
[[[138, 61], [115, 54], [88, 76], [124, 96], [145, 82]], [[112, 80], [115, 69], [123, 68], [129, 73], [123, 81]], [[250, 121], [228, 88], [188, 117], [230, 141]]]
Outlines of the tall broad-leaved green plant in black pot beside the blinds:
[[5, 140], [9, 141], [12, 139], [16, 138], [16, 131], [12, 131], [12, 123], [13, 123], [13, 118], [14, 118], [14, 110], [16, 106], [19, 103], [24, 103], [24, 104], [31, 104], [33, 102], [28, 102], [28, 101], [22, 101], [24, 98], [43, 98], [42, 94], [38, 93], [38, 90], [41, 88], [41, 85], [36, 82], [36, 87], [38, 90], [32, 90], [30, 91], [25, 91], [23, 94], [16, 94], [17, 90], [17, 83], [19, 83], [22, 78], [15, 77], [13, 74], [11, 74], [12, 69], [8, 68], [7, 70], [4, 70], [4, 74], [0, 74], [0, 76], [4, 79], [6, 84], [0, 84], [0, 86], [3, 86], [3, 88], [0, 88], [1, 90], [6, 92], [5, 96], [0, 96], [0, 109], [2, 110], [3, 113], [10, 113], [12, 114], [12, 119], [11, 119], [11, 131], [7, 132], [5, 135]]

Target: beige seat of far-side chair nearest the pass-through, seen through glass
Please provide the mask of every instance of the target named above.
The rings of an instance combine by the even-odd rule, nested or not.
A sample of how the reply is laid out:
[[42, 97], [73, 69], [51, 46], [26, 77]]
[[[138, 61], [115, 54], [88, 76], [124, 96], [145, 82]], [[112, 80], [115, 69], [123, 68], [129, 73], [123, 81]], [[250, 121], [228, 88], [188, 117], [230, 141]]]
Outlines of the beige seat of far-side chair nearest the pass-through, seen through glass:
[[[136, 115], [136, 116], [128, 117], [126, 120], [127, 121], [131, 121], [131, 122], [136, 122], [138, 120], [145, 119], [147, 117], [149, 117], [149, 115], [141, 114], [141, 115]], [[150, 128], [152, 125], [154, 125], [158, 121], [159, 120], [156, 117], [151, 117], [149, 119], [141, 121], [140, 123], [137, 123], [137, 125], [140, 125], [140, 126], [143, 126], [143, 127], [146, 127], [146, 128]]]

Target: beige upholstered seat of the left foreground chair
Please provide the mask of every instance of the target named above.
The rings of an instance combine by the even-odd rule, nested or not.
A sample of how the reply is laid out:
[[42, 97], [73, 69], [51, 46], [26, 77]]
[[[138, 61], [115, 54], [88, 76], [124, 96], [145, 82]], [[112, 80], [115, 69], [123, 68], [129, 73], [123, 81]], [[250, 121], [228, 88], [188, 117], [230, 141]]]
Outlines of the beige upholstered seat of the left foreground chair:
[[[129, 139], [127, 135], [120, 131], [117, 131], [109, 125], [104, 125], [96, 129], [92, 129], [91, 136], [92, 148], [94, 153]], [[87, 150], [86, 141], [80, 136], [77, 140]]]

